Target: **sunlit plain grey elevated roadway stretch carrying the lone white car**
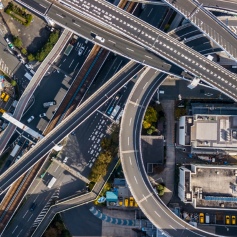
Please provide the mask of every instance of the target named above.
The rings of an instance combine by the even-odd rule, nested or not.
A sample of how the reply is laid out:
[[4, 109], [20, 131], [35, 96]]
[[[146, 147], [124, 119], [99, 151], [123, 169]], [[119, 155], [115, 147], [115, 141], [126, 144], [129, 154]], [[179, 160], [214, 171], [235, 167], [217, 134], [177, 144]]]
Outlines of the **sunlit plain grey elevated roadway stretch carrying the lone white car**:
[[[66, 17], [62, 17], [63, 15]], [[99, 42], [92, 38], [92, 32], [103, 35], [103, 37], [106, 38], [106, 41], [103, 44], [104, 48], [108, 48], [109, 50], [121, 54], [129, 59], [148, 64], [151, 67], [159, 68], [164, 71], [169, 71], [170, 69], [169, 64], [144, 49], [144, 47], [131, 42], [122, 35], [108, 31], [105, 27], [98, 28], [99, 25], [92, 24], [92, 22], [87, 22], [83, 18], [76, 18], [70, 13], [63, 12], [63, 10], [59, 9], [57, 6], [53, 5], [48, 11], [47, 16], [54, 19], [60, 25], [68, 27], [77, 34], [93, 41], [94, 43]]]

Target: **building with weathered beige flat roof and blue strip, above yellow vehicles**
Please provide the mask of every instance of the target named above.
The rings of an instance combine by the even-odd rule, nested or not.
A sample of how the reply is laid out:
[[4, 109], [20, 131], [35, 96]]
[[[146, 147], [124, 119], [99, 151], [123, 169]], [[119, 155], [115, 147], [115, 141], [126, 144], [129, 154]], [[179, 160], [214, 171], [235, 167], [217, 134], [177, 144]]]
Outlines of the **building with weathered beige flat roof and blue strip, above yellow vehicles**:
[[236, 209], [237, 166], [180, 167], [178, 196], [199, 209]]

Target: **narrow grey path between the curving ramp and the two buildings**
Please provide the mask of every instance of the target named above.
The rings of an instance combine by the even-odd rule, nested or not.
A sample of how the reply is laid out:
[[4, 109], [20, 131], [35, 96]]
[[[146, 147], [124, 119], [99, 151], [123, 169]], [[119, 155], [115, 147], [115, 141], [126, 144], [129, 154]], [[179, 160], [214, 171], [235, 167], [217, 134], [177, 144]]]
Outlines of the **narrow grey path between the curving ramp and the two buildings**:
[[154, 179], [162, 179], [166, 188], [165, 194], [161, 197], [161, 200], [167, 205], [173, 195], [174, 191], [174, 174], [175, 174], [175, 119], [174, 119], [174, 100], [162, 100], [161, 105], [163, 107], [166, 118], [166, 163], [163, 171], [153, 177]]

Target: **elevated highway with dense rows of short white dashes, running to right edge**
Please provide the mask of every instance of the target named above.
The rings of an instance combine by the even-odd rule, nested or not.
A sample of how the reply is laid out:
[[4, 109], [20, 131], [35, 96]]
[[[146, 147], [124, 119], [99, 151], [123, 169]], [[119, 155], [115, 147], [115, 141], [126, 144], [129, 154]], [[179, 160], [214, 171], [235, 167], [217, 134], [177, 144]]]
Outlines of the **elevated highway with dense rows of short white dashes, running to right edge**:
[[[67, 2], [68, 4], [70, 3], [70, 6], [72, 5], [78, 11], [80, 11], [81, 15], [89, 14], [90, 12], [90, 19], [93, 17], [94, 19], [97, 19], [97, 23], [101, 23], [101, 32], [99, 29], [97, 31], [100, 32], [99, 34], [104, 36], [102, 28], [104, 28], [104, 25], [107, 25], [107, 27], [111, 27], [121, 34], [126, 35], [130, 40], [140, 43], [145, 48], [147, 48], [147, 51], [150, 50], [161, 55], [174, 64], [179, 65], [185, 70], [191, 72], [191, 74], [196, 75], [197, 77], [200, 76], [202, 80], [210, 85], [213, 85], [215, 88], [230, 96], [234, 100], [237, 99], [236, 74], [233, 74], [220, 65], [210, 61], [205, 56], [202, 56], [188, 46], [169, 37], [164, 32], [150, 26], [146, 22], [141, 21], [140, 19], [114, 7], [107, 2], [100, 2], [97, 0], [93, 5], [85, 0], [80, 1], [77, 5], [75, 5], [73, 2], [70, 2], [69, 0], [67, 0]], [[53, 5], [53, 7], [56, 6]], [[50, 8], [49, 12], [53, 7]], [[95, 9], [100, 9], [100, 11], [103, 11], [104, 13], [100, 14], [100, 11], [95, 11]], [[60, 10], [62, 11], [62, 9], [58, 8], [58, 12]], [[74, 13], [74, 18], [71, 17], [71, 14], [67, 15], [66, 12], [60, 14], [65, 16], [63, 18], [60, 17], [61, 19], [59, 19], [59, 21], [61, 20], [62, 24], [65, 21], [65, 18], [70, 18], [71, 20], [77, 19], [76, 12]], [[107, 16], [109, 16], [109, 18]], [[119, 39], [117, 40], [119, 41]], [[105, 37], [105, 43], [107, 41], [108, 39]], [[105, 43], [98, 43], [103, 47], [105, 46]], [[108, 47], [108, 44], [106, 47]], [[110, 50], [113, 51], [114, 48], [110, 47]], [[127, 57], [127, 54], [124, 56]], [[136, 52], [131, 51], [129, 52], [129, 57], [132, 58], [135, 54]], [[145, 63], [148, 64], [148, 61], [146, 60]]]

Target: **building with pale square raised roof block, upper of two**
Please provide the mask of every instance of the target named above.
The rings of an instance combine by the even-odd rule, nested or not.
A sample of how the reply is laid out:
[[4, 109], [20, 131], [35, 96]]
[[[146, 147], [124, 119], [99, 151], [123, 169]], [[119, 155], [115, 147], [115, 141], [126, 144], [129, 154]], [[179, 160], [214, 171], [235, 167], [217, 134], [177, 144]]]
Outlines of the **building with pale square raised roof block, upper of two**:
[[237, 155], [237, 116], [182, 116], [179, 120], [179, 145], [195, 154]]

